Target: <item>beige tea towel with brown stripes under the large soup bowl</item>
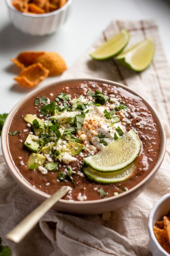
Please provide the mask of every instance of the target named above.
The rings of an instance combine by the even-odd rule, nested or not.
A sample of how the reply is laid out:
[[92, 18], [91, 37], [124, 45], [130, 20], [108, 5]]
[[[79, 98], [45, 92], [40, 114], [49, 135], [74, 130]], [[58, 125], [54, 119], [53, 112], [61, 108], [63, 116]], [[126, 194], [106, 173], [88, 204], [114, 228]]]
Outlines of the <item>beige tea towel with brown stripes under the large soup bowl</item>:
[[[131, 35], [128, 47], [154, 37], [155, 57], [146, 71], [136, 73], [119, 66], [114, 59], [95, 61], [89, 57], [90, 52], [122, 28]], [[11, 247], [14, 256], [151, 255], [147, 248], [148, 214], [154, 203], [170, 192], [170, 69], [157, 30], [154, 21], [113, 21], [61, 77], [96, 77], [121, 82], [148, 100], [159, 114], [167, 136], [165, 159], [155, 179], [128, 205], [108, 214], [107, 220], [102, 215], [75, 217], [49, 211], [39, 223], [41, 229], [37, 225], [20, 244], [14, 244], [4, 238], [5, 234], [37, 203], [16, 185], [0, 156], [0, 237]]]

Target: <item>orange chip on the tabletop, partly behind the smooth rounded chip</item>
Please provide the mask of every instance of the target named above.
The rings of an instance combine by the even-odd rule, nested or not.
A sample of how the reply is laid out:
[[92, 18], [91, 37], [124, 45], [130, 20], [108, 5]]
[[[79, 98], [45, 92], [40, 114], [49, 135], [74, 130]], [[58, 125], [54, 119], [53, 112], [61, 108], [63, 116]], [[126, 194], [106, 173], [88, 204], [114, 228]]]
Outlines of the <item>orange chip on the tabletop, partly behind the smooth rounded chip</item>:
[[11, 61], [19, 68], [24, 69], [25, 67], [32, 65], [37, 57], [44, 53], [44, 51], [23, 51], [16, 57], [16, 59], [11, 59]]

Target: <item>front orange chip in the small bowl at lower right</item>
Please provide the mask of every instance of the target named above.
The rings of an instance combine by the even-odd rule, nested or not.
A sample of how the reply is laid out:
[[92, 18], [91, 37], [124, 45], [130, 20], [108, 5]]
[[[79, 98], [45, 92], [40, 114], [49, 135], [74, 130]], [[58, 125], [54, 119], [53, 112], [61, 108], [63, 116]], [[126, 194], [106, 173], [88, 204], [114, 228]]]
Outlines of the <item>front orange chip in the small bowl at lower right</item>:
[[169, 240], [167, 237], [167, 233], [165, 229], [159, 229], [156, 226], [154, 226], [154, 234], [157, 239], [157, 241], [160, 243], [160, 245], [164, 248], [164, 250], [168, 253], [170, 253], [170, 247], [169, 247]]

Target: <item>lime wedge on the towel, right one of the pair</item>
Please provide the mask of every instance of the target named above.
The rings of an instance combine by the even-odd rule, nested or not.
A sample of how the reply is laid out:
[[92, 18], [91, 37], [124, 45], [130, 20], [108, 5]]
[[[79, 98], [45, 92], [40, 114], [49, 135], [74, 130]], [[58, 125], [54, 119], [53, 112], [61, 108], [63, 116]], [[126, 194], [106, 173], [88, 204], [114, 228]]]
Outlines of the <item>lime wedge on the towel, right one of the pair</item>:
[[154, 57], [154, 40], [152, 38], [133, 45], [117, 56], [122, 66], [140, 72], [146, 69]]

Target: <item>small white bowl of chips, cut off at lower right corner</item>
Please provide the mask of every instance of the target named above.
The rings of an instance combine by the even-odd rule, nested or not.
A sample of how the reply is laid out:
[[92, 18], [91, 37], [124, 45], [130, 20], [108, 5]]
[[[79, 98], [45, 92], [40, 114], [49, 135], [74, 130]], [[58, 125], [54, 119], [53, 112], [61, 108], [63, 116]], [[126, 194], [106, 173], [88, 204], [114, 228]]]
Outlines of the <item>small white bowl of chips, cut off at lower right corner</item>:
[[163, 196], [157, 203], [155, 203], [148, 217], [148, 232], [149, 232], [149, 250], [153, 256], [169, 256], [169, 253], [162, 248], [162, 246], [157, 241], [153, 227], [156, 221], [162, 220], [164, 216], [170, 210], [170, 193]]

